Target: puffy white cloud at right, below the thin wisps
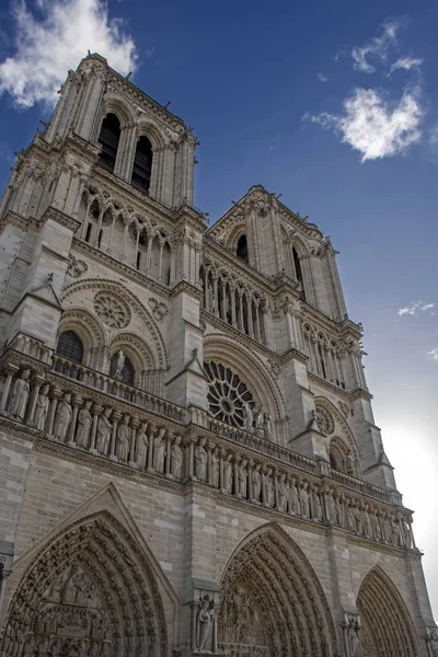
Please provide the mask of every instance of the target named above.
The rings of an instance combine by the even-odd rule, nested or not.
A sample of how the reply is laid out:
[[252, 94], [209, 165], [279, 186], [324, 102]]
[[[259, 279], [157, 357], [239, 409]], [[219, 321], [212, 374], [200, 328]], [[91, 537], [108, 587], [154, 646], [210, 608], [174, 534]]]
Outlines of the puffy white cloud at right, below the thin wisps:
[[405, 90], [395, 103], [374, 89], [355, 89], [344, 101], [343, 114], [307, 114], [303, 118], [338, 132], [366, 162], [402, 154], [419, 141], [423, 116], [418, 88]]

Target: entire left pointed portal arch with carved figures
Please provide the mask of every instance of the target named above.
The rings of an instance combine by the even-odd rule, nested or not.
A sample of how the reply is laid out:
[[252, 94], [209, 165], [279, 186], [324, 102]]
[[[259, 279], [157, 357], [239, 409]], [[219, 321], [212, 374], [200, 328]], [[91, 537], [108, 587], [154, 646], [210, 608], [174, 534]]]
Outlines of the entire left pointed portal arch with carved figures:
[[61, 530], [11, 599], [4, 657], [168, 655], [164, 608], [142, 548], [108, 511]]

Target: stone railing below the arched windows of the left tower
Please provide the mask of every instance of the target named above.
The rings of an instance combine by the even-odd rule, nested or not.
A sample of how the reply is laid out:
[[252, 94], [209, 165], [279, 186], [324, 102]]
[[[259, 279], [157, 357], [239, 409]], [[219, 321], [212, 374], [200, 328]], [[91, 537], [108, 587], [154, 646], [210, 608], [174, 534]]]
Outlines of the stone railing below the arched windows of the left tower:
[[170, 419], [180, 423], [185, 422], [185, 408], [151, 394], [150, 392], [129, 385], [124, 381], [113, 379], [107, 374], [84, 367], [79, 362], [73, 362], [55, 354], [53, 358], [53, 368], [55, 372], [62, 377], [79, 381], [88, 388], [93, 388], [105, 394], [118, 397], [122, 401], [140, 406], [146, 411], [151, 411], [158, 415], [169, 417]]

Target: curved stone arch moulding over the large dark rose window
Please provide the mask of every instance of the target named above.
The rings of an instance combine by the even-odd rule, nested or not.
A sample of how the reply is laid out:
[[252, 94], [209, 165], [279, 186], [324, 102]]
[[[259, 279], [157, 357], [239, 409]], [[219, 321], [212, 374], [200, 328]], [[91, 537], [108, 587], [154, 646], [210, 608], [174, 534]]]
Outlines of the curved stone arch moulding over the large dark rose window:
[[229, 367], [274, 419], [285, 417], [284, 400], [278, 385], [263, 362], [241, 343], [223, 334], [209, 333], [204, 338], [204, 360], [215, 360]]

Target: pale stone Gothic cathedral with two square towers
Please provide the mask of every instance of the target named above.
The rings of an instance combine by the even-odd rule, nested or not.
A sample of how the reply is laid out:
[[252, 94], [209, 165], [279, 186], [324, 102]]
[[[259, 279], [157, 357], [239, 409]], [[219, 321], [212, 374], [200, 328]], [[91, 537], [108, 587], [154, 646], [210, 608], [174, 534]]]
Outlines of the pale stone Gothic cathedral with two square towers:
[[99, 55], [0, 206], [0, 655], [437, 657], [335, 255]]

